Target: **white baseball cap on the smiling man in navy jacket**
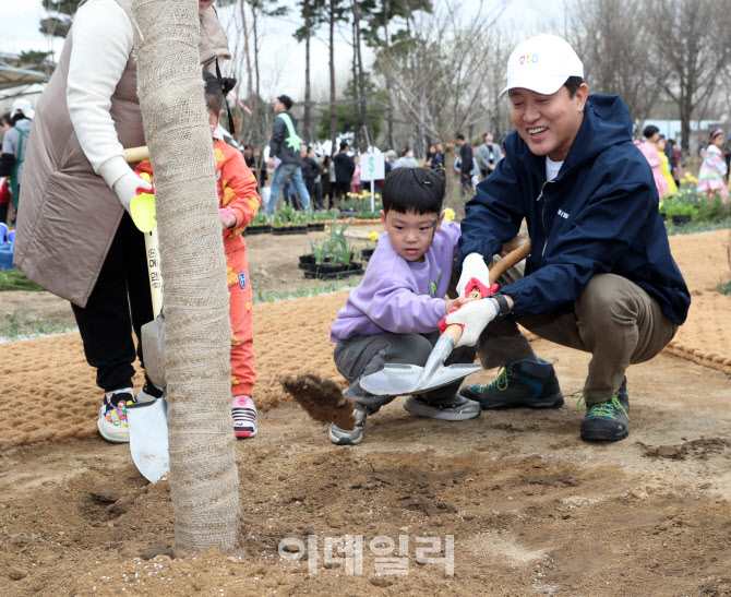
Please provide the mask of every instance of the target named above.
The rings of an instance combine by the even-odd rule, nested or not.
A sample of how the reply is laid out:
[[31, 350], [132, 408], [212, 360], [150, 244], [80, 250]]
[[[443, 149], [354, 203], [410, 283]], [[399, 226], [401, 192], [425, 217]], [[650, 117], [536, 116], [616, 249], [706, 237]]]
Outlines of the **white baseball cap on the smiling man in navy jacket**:
[[574, 48], [561, 37], [541, 33], [513, 50], [507, 60], [507, 85], [498, 97], [516, 87], [552, 95], [570, 76], [584, 79], [584, 64]]

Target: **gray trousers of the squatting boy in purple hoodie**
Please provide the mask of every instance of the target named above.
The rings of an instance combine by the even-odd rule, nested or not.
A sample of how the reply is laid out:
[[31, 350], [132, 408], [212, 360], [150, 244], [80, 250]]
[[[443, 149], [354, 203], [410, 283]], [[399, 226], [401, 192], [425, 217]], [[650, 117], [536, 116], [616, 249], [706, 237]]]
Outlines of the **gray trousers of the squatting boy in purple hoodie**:
[[[350, 387], [346, 395], [356, 401], [358, 408], [367, 415], [373, 415], [383, 405], [396, 396], [376, 396], [360, 387], [359, 380], [383, 369], [386, 363], [423, 366], [439, 339], [439, 332], [430, 334], [375, 334], [372, 336], [352, 336], [341, 341], [335, 347], [335, 366], [348, 380]], [[455, 348], [445, 365], [455, 362], [475, 362], [477, 346]], [[463, 380], [457, 380], [422, 396], [433, 404], [450, 404], [459, 390]]]

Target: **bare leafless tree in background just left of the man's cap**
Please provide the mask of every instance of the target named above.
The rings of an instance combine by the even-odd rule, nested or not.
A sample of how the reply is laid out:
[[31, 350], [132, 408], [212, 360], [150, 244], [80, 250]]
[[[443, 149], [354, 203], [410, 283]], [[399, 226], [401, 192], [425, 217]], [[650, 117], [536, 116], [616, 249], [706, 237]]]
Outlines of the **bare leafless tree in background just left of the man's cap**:
[[[469, 134], [484, 117], [486, 98], [496, 98], [504, 80], [491, 76], [489, 67], [504, 64], [502, 48], [512, 46], [495, 27], [505, 3], [490, 13], [466, 11], [467, 4], [446, 1], [431, 13], [404, 5], [405, 26], [391, 37], [388, 53], [376, 55], [375, 70], [392, 81], [396, 110], [412, 123], [420, 157], [432, 141]], [[453, 162], [447, 154], [447, 170]], [[452, 183], [447, 176], [447, 194]]]

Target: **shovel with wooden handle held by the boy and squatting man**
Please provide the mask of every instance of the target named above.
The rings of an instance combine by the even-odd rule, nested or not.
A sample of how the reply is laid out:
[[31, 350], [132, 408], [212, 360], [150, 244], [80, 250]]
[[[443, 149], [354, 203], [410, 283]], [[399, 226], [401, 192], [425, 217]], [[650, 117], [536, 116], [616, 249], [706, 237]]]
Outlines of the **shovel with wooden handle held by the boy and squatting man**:
[[[491, 278], [498, 279], [506, 270], [523, 261], [530, 253], [530, 241], [508, 253], [491, 270]], [[475, 292], [475, 291], [474, 291]], [[481, 298], [470, 294], [470, 300]], [[463, 327], [452, 324], [439, 337], [429, 359], [423, 367], [417, 365], [391, 363], [381, 371], [366, 375], [360, 380], [360, 386], [376, 396], [400, 396], [404, 394], [420, 394], [429, 390], [436, 390], [476, 373], [482, 366], [472, 363], [457, 363], [444, 367], [454, 345], [462, 337]]]

